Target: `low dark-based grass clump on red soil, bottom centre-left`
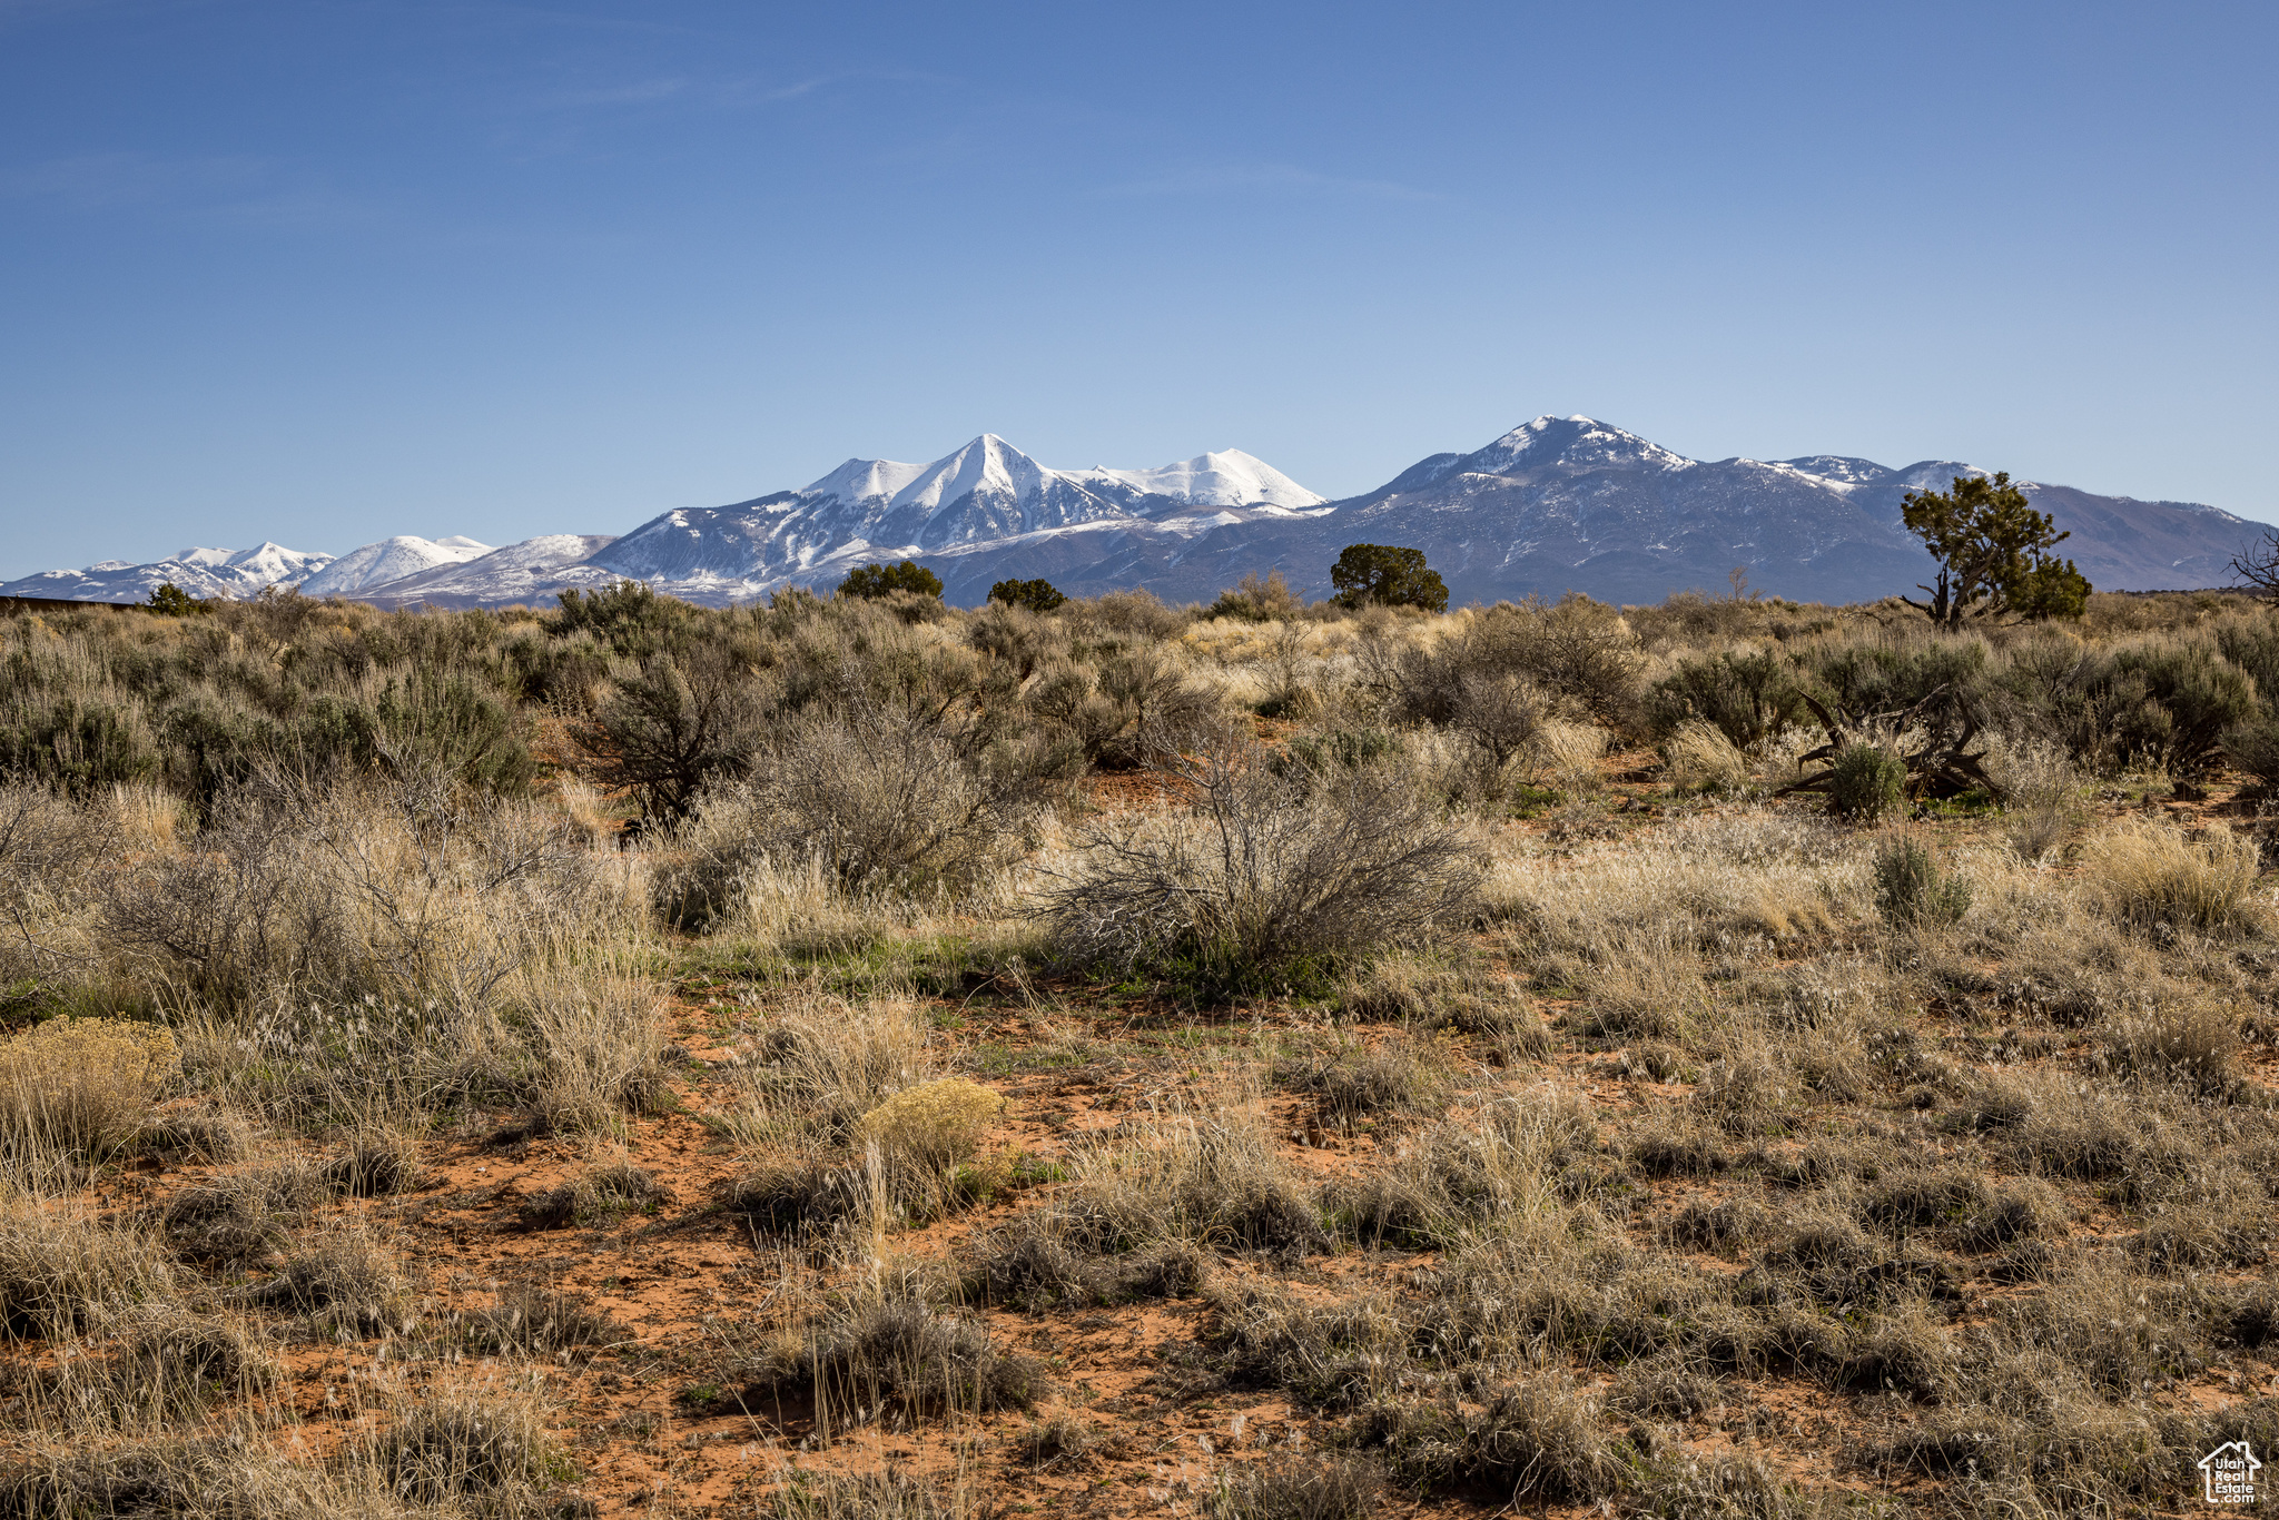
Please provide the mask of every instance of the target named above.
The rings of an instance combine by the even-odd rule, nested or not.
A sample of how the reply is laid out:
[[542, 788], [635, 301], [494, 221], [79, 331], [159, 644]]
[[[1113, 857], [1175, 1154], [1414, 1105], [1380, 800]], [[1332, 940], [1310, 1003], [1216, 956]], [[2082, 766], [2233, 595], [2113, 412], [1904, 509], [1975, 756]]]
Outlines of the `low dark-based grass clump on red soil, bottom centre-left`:
[[836, 1319], [786, 1331], [743, 1372], [745, 1408], [811, 1397], [841, 1417], [1030, 1408], [1044, 1367], [1005, 1351], [987, 1326], [934, 1313], [916, 1297], [868, 1297]]

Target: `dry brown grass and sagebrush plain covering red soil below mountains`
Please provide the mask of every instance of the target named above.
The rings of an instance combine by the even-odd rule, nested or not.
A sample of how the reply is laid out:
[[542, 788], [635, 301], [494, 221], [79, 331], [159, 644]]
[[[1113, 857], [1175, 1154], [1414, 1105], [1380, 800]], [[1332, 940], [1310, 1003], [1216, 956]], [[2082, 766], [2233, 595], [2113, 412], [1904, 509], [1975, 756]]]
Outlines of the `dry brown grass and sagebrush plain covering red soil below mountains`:
[[0, 1513], [2195, 1509], [2274, 652], [11, 613]]

